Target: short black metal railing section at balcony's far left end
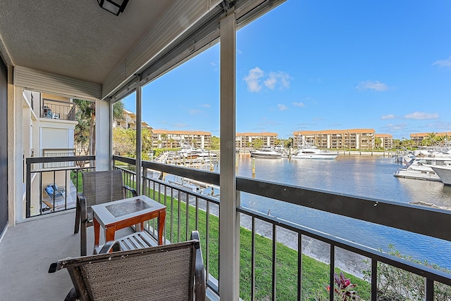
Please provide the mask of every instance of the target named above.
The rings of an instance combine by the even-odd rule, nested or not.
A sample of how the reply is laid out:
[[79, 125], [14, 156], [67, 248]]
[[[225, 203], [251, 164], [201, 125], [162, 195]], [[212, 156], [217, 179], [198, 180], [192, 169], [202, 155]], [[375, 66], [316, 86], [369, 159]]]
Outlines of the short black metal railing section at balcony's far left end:
[[95, 170], [94, 162], [93, 155], [27, 158], [25, 217], [75, 207], [76, 193], [82, 191], [80, 172]]

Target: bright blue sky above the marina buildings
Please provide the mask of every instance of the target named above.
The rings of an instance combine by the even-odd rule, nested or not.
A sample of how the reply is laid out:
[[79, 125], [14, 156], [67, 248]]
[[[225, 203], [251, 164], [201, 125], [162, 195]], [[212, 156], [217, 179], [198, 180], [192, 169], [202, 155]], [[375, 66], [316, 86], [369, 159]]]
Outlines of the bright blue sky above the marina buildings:
[[[237, 132], [451, 132], [450, 20], [448, 0], [288, 0], [237, 32]], [[219, 49], [147, 84], [142, 119], [219, 136]]]

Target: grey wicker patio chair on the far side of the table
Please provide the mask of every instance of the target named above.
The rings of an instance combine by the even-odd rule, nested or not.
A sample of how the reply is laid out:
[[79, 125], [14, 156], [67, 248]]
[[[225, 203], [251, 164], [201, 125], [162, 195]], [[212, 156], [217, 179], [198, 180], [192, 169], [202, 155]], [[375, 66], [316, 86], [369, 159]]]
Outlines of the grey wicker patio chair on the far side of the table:
[[135, 189], [124, 186], [122, 171], [82, 172], [83, 192], [77, 195], [74, 234], [80, 231], [80, 255], [87, 255], [86, 229], [92, 226], [92, 205], [121, 200], [125, 191], [137, 196]]

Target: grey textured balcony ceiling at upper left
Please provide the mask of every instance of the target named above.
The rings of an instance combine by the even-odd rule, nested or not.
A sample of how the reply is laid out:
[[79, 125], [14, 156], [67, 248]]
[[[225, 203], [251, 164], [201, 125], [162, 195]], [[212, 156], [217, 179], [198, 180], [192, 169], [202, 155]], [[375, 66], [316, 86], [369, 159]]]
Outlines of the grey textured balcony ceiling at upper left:
[[116, 16], [97, 0], [0, 0], [0, 51], [13, 65], [101, 84], [174, 2], [131, 0]]

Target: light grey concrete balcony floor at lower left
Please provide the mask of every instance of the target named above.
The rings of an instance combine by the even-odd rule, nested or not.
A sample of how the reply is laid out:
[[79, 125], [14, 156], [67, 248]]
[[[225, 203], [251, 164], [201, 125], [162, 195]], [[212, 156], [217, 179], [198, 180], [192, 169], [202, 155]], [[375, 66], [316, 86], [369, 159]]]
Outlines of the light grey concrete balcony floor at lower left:
[[[0, 300], [64, 300], [73, 287], [68, 272], [49, 274], [48, 270], [52, 262], [80, 256], [80, 233], [73, 233], [74, 222], [75, 210], [68, 210], [8, 228], [0, 243]], [[131, 229], [121, 231], [118, 235], [131, 233]], [[93, 247], [94, 228], [90, 226], [88, 253]]]

